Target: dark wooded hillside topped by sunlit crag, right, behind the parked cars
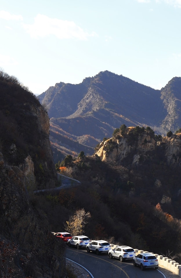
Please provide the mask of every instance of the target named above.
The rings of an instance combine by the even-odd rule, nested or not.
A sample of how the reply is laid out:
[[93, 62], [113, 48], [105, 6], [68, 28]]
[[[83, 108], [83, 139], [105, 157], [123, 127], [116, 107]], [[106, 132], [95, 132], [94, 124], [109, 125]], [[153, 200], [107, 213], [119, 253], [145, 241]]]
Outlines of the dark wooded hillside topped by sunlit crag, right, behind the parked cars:
[[[112, 138], [102, 141], [94, 156], [66, 164], [81, 185], [52, 196], [51, 211], [44, 205], [42, 209], [53, 229], [59, 230], [67, 215], [84, 208], [91, 214], [85, 229], [91, 239], [158, 254], [170, 250], [178, 261], [180, 147], [181, 133], [161, 137], [150, 127], [123, 125]], [[59, 223], [54, 221], [57, 217]]]

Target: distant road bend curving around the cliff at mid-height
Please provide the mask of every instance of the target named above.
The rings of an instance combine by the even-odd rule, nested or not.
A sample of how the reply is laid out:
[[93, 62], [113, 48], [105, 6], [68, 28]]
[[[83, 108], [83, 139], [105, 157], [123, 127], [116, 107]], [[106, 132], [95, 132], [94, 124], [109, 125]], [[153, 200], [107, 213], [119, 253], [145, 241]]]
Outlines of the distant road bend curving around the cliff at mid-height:
[[79, 180], [75, 180], [75, 179], [66, 177], [66, 176], [61, 175], [61, 174], [57, 174], [57, 177], [58, 177], [58, 180], [61, 181], [61, 186], [55, 187], [55, 188], [50, 188], [50, 189], [35, 190], [33, 192], [34, 193], [48, 192], [48, 191], [52, 192], [52, 191], [58, 191], [58, 190], [61, 190], [61, 189], [81, 185], [81, 182], [79, 182]]

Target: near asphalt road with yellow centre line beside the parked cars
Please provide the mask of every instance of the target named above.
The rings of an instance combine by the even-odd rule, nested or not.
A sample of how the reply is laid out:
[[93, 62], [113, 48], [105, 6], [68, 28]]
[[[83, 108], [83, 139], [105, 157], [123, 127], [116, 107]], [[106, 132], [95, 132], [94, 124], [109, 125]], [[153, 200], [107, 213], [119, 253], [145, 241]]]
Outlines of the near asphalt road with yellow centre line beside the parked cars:
[[66, 258], [84, 266], [94, 278], [166, 278], [159, 269], [142, 271], [133, 266], [132, 260], [121, 263], [118, 259], [110, 259], [108, 254], [87, 253], [83, 248], [77, 250], [67, 246]]

